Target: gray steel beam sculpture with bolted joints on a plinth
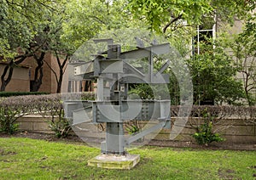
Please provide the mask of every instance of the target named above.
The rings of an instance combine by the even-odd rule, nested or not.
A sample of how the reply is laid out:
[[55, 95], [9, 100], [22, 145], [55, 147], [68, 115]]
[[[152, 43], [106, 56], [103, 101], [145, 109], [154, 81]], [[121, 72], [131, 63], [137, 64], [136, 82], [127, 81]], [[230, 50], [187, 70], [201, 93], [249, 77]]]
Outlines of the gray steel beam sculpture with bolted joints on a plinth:
[[[73, 65], [73, 76], [84, 80], [97, 82], [95, 101], [65, 101], [65, 115], [73, 121], [73, 125], [91, 122], [106, 123], [106, 140], [101, 143], [102, 154], [125, 155], [125, 148], [132, 142], [143, 138], [157, 129], [170, 127], [170, 99], [130, 99], [129, 84], [169, 83], [169, 76], [164, 65], [154, 71], [154, 56], [170, 52], [169, 43], [152, 43], [150, 47], [143, 47], [137, 39], [137, 49], [121, 52], [121, 46], [114, 44], [112, 39], [99, 39], [95, 43], [108, 43], [108, 51], [94, 55], [90, 62]], [[148, 68], [140, 70], [129, 63], [130, 59], [148, 61]], [[156, 120], [159, 123], [153, 127], [138, 132], [129, 138], [125, 137], [124, 123], [131, 120]]]

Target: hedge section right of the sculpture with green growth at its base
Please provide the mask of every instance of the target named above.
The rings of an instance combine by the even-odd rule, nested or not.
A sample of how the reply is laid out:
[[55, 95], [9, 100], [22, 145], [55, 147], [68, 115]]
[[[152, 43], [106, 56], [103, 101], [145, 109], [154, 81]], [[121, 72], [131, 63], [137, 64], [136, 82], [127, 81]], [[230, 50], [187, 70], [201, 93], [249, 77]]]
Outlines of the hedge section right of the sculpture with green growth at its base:
[[[171, 106], [172, 117], [177, 117], [180, 106]], [[195, 118], [195, 123], [188, 123], [189, 128], [195, 130], [192, 137], [197, 143], [208, 144], [212, 142], [221, 142], [218, 131], [224, 131], [233, 126], [233, 122], [227, 123], [227, 118], [241, 119], [245, 125], [247, 123], [254, 123], [256, 125], [256, 107], [254, 106], [198, 106], [194, 105], [189, 114], [189, 118]], [[197, 124], [196, 124], [197, 121]], [[218, 128], [217, 128], [218, 126]]]

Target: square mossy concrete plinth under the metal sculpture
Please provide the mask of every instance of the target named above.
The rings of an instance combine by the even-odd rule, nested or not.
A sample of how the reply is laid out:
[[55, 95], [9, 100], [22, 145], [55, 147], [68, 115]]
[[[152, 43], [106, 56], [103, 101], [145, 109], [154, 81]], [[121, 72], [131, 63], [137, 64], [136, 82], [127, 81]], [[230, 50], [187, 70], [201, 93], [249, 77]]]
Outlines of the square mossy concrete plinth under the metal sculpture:
[[88, 166], [130, 170], [137, 165], [139, 160], [139, 155], [98, 155], [95, 158], [88, 160]]

